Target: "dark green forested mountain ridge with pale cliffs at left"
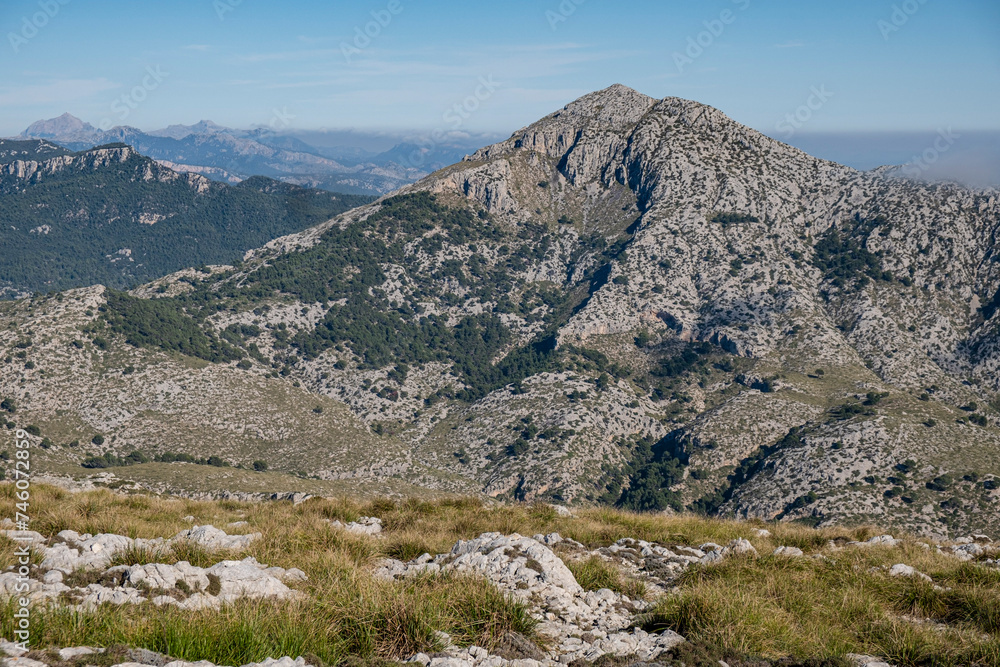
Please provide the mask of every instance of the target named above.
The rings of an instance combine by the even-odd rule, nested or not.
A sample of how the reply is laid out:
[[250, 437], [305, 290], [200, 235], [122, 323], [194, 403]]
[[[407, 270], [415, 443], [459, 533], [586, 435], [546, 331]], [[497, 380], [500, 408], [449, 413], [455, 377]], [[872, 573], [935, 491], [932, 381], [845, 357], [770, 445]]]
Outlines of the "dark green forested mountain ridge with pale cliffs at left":
[[17, 157], [0, 165], [0, 284], [14, 291], [125, 287], [186, 266], [232, 262], [370, 201], [263, 178], [228, 187], [178, 174], [121, 144]]

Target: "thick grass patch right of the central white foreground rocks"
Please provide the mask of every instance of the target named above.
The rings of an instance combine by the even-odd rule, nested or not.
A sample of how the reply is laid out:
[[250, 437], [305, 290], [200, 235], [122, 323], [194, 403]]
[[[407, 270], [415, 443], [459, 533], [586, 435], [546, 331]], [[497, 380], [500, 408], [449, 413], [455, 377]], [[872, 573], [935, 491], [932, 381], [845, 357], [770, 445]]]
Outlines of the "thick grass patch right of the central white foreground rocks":
[[1000, 572], [942, 568], [936, 578], [948, 588], [939, 591], [873, 570], [915, 559], [929, 566], [921, 555], [883, 549], [827, 560], [731, 558], [686, 572], [680, 595], [662, 600], [642, 622], [737, 655], [865, 653], [900, 667], [1000, 665]]

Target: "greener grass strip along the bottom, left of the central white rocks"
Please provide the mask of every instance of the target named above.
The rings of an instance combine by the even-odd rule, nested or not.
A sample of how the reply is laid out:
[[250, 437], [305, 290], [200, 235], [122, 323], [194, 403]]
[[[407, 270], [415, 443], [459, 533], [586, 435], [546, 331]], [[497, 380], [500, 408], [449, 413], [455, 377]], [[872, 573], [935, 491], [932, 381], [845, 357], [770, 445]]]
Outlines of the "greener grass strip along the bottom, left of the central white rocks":
[[[321, 576], [309, 599], [299, 602], [245, 602], [199, 612], [152, 605], [104, 605], [85, 613], [38, 609], [33, 640], [44, 646], [125, 644], [217, 664], [284, 655], [337, 664], [349, 656], [432, 652], [441, 648], [436, 630], [457, 643], [492, 646], [508, 632], [530, 635], [535, 625], [523, 605], [482, 580], [440, 576], [394, 584], [349, 569]], [[4, 613], [0, 634], [13, 631], [11, 619]]]

